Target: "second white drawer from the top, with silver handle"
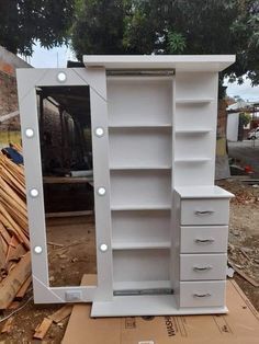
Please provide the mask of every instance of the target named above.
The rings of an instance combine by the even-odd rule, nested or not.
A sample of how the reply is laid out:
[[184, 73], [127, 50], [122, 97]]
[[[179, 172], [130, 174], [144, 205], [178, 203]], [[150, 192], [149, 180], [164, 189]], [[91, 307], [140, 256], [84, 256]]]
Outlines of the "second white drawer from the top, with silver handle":
[[228, 227], [181, 227], [181, 253], [227, 252]]

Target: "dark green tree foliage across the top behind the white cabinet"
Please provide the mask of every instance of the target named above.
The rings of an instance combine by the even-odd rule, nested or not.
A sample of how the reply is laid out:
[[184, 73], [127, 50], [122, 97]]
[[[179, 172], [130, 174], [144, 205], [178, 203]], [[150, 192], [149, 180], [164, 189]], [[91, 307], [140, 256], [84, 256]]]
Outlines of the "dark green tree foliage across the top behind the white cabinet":
[[259, 0], [0, 0], [0, 45], [85, 54], [236, 54], [224, 74], [259, 84]]

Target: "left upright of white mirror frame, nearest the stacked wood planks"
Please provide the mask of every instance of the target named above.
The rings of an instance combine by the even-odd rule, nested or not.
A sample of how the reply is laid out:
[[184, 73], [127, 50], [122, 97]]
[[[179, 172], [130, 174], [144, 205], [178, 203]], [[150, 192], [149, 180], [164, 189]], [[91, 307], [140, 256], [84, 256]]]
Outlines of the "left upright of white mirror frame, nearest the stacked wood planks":
[[[19, 71], [22, 74], [21, 71]], [[21, 77], [20, 77], [21, 78]], [[26, 89], [25, 89], [26, 90]], [[44, 195], [42, 184], [42, 161], [40, 147], [40, 133], [37, 121], [37, 102], [35, 88], [25, 93], [21, 84], [18, 84], [20, 121], [22, 128], [23, 157], [26, 182], [26, 204], [30, 229], [30, 243], [32, 259], [32, 275], [34, 285], [34, 300], [44, 302], [43, 291], [36, 285], [48, 286], [47, 240], [45, 226]], [[34, 131], [33, 137], [27, 138], [26, 129]], [[37, 197], [31, 197], [30, 191], [38, 191]], [[35, 246], [42, 248], [41, 254], [35, 254]]]

